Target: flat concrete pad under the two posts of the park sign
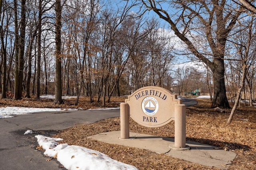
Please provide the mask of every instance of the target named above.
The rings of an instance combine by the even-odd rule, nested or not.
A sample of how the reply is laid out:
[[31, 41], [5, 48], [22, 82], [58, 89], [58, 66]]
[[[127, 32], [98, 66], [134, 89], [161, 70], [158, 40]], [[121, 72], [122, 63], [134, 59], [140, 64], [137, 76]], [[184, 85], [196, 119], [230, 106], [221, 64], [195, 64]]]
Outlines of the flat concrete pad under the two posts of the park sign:
[[88, 138], [110, 144], [147, 149], [153, 152], [167, 154], [174, 158], [221, 169], [228, 169], [228, 166], [236, 157], [236, 153], [234, 152], [216, 149], [215, 146], [191, 141], [186, 141], [186, 147], [189, 147], [190, 150], [176, 150], [172, 149], [172, 146], [174, 146], [174, 138], [134, 132], [130, 132], [130, 138], [128, 139], [120, 139], [120, 131], [104, 132], [89, 136]]

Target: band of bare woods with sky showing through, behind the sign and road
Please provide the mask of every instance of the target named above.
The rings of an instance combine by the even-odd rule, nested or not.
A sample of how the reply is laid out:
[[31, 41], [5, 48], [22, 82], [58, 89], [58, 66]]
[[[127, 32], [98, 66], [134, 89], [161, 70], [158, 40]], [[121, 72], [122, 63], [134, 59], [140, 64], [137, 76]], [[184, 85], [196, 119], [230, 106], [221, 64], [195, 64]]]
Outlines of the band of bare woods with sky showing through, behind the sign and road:
[[229, 107], [239, 91], [252, 102], [254, 14], [240, 2], [157, 2], [1, 0], [2, 98], [76, 95], [77, 104], [87, 95], [105, 105], [160, 86], [200, 89], [212, 107]]

